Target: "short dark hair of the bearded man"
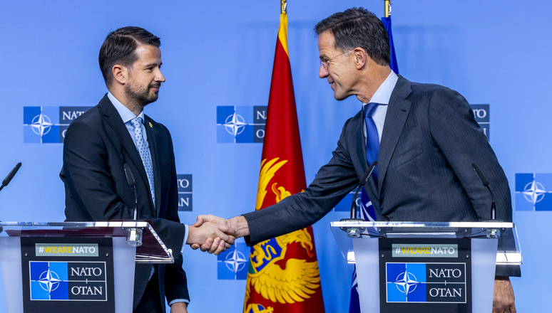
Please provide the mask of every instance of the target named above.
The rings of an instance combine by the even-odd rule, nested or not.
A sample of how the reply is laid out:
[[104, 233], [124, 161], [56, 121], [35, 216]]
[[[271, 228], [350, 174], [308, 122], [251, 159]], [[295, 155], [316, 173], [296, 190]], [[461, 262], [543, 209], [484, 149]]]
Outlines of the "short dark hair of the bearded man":
[[113, 75], [111, 75], [111, 68], [113, 68], [113, 65], [121, 64], [130, 68], [137, 60], [134, 51], [136, 51], [136, 48], [138, 48], [140, 44], [159, 48], [161, 46], [161, 41], [160, 38], [153, 35], [153, 33], [146, 31], [144, 28], [135, 26], [121, 27], [108, 34], [106, 40], [103, 41], [101, 45], [100, 55], [98, 57], [101, 74], [108, 87], [113, 81]]

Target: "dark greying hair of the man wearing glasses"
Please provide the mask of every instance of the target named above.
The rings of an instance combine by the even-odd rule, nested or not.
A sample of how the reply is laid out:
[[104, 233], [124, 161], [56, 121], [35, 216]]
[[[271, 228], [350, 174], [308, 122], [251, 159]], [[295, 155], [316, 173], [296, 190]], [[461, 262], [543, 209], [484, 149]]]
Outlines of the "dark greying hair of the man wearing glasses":
[[385, 26], [362, 6], [324, 18], [316, 24], [315, 32], [320, 36], [324, 31], [334, 36], [334, 48], [343, 52], [360, 47], [378, 65], [389, 65], [391, 52]]

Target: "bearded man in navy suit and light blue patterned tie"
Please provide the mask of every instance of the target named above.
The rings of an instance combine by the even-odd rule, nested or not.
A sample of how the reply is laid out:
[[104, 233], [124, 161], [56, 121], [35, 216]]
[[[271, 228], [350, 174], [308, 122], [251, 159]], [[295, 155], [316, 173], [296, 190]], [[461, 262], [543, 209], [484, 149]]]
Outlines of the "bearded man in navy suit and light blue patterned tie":
[[[187, 312], [189, 302], [181, 255], [184, 244], [214, 240], [219, 254], [233, 243], [224, 229], [186, 226], [178, 218], [178, 186], [173, 142], [168, 129], [144, 115], [157, 100], [165, 77], [160, 72], [160, 39], [138, 27], [109, 33], [99, 63], [109, 92], [96, 107], [74, 120], [63, 144], [61, 180], [66, 190], [66, 221], [132, 219], [136, 180], [139, 220], [149, 220], [175, 263], [136, 265], [133, 312]], [[222, 231], [221, 231], [222, 230]], [[227, 229], [228, 230], [228, 229]], [[221, 240], [222, 239], [222, 240]]]

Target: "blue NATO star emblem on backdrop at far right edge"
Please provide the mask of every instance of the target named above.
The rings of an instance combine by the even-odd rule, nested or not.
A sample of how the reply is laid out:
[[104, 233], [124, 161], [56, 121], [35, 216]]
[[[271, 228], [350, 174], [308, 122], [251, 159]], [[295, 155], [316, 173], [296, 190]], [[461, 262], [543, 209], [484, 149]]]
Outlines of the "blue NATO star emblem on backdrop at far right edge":
[[552, 174], [516, 174], [516, 211], [552, 211]]

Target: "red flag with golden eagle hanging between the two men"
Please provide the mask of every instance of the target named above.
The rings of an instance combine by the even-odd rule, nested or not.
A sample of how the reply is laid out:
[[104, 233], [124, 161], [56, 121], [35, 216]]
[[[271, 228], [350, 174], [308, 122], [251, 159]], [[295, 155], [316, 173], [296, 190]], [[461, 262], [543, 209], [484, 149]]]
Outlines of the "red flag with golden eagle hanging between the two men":
[[[302, 192], [305, 169], [287, 53], [287, 14], [280, 15], [256, 210]], [[312, 227], [251, 248], [244, 313], [324, 312]]]

